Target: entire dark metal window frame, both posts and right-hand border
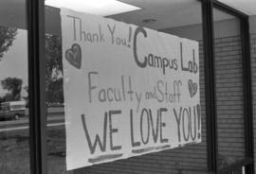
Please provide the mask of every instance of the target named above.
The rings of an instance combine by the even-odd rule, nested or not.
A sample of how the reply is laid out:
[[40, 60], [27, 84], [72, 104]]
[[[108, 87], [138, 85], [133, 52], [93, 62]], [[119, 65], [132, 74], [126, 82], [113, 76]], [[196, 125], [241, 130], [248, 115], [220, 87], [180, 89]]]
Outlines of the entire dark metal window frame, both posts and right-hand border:
[[[216, 0], [198, 0], [202, 5], [203, 42], [205, 58], [205, 86], [207, 113], [208, 171], [225, 173], [246, 165], [247, 174], [254, 173], [253, 115], [250, 69], [248, 16]], [[215, 99], [213, 8], [228, 12], [241, 21], [244, 78], [244, 112], [246, 159], [227, 168], [217, 168], [217, 122]], [[46, 151], [46, 58], [45, 58], [45, 1], [27, 0], [28, 37], [28, 94], [30, 173], [47, 174]]]

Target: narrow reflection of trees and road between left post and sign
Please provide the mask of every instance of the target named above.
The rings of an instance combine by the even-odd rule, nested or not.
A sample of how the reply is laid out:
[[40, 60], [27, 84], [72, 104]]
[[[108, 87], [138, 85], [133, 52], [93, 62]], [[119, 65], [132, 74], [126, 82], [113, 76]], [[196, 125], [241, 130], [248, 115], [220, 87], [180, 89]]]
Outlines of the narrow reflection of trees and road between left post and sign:
[[61, 36], [46, 34], [47, 152], [50, 174], [65, 171], [64, 91]]

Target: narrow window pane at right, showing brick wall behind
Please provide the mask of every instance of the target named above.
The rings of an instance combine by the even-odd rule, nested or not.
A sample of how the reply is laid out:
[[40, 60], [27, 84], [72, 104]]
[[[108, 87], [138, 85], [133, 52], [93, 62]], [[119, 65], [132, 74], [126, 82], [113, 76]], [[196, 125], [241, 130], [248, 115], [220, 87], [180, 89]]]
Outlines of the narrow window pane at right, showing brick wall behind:
[[245, 114], [240, 21], [214, 14], [218, 167], [245, 159]]

